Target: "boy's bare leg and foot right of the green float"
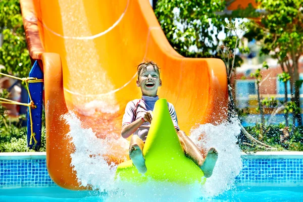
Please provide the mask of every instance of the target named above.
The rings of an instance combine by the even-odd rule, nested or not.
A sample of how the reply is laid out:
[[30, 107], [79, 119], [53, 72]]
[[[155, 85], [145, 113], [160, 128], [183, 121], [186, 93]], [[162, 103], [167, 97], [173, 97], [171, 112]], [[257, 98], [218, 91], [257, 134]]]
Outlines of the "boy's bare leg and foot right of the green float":
[[218, 159], [217, 150], [215, 148], [210, 148], [204, 159], [198, 147], [191, 141], [184, 131], [179, 130], [177, 134], [185, 154], [204, 172], [205, 177], [211, 177]]

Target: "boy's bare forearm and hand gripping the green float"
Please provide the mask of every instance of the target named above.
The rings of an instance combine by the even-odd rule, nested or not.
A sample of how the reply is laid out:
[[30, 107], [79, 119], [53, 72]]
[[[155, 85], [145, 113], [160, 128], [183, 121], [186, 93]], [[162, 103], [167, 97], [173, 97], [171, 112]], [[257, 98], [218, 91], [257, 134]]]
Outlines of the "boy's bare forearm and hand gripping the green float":
[[153, 113], [148, 111], [144, 114], [144, 117], [135, 120], [130, 124], [125, 124], [122, 126], [121, 135], [123, 138], [129, 137], [133, 134], [145, 121], [151, 123], [151, 119], [153, 119]]

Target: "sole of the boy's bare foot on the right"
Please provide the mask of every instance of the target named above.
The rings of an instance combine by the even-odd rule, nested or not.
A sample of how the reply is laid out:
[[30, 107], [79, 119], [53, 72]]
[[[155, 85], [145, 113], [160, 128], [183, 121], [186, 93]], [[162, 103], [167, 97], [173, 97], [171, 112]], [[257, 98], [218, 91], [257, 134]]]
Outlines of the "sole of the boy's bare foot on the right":
[[200, 169], [204, 172], [204, 176], [206, 178], [212, 176], [217, 159], [218, 159], [218, 151], [215, 148], [210, 148], [203, 163], [200, 166]]

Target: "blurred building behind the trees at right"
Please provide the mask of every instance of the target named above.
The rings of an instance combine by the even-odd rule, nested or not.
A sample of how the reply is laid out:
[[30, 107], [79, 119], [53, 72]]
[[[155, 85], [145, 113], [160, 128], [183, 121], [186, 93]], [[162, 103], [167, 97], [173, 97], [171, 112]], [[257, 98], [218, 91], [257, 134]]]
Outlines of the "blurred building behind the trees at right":
[[[240, 109], [244, 109], [245, 112], [248, 112], [248, 115], [243, 125], [254, 125], [256, 123], [256, 119], [260, 118], [258, 116], [259, 112], [257, 112], [258, 107], [258, 96], [256, 92], [255, 79], [250, 77], [251, 73], [255, 73], [255, 71], [259, 68], [262, 68], [263, 62], [267, 62], [269, 69], [262, 70], [261, 74], [263, 79], [265, 79], [260, 88], [260, 94], [263, 98], [265, 97], [274, 97], [281, 102], [284, 102], [284, 83], [279, 81], [277, 78], [278, 74], [282, 73], [282, 69], [278, 64], [278, 61], [272, 59], [270, 56], [260, 57], [259, 51], [260, 46], [256, 41], [252, 41], [248, 44], [245, 44], [249, 47], [250, 53], [248, 55], [243, 55], [242, 59], [244, 60], [244, 64], [236, 70], [235, 77], [235, 95], [236, 95], [236, 103], [237, 107]], [[299, 59], [299, 78], [303, 80], [303, 57]], [[287, 93], [288, 100], [290, 100], [290, 83], [287, 83]], [[300, 94], [303, 95], [303, 88], [300, 88]], [[303, 107], [303, 96], [300, 95], [301, 100], [301, 108]], [[268, 107], [265, 108], [265, 114], [268, 118], [270, 118], [271, 113], [274, 108]], [[290, 115], [291, 116], [291, 115]], [[283, 118], [283, 110], [281, 110], [274, 118], [273, 123], [282, 123], [284, 121]]]

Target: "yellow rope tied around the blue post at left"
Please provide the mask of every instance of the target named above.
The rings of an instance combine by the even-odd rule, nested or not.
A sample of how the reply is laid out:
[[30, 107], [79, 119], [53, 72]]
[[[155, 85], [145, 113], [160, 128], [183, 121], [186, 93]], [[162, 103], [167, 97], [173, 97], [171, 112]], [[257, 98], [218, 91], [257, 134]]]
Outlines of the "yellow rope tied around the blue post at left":
[[32, 119], [31, 109], [32, 108], [37, 108], [37, 107], [35, 106], [32, 98], [31, 98], [31, 95], [30, 95], [30, 92], [29, 92], [28, 83], [43, 82], [43, 79], [37, 79], [37, 78], [34, 78], [34, 77], [19, 78], [19, 77], [15, 77], [15, 76], [12, 76], [12, 75], [4, 74], [4, 73], [1, 73], [1, 72], [0, 72], [0, 75], [7, 76], [7, 77], [10, 77], [10, 78], [13, 78], [13, 79], [18, 79], [18, 80], [21, 80], [21, 81], [25, 82], [26, 89], [27, 89], [27, 92], [28, 92], [28, 96], [29, 96], [29, 99], [30, 99], [30, 103], [28, 103], [28, 104], [26, 104], [26, 103], [19, 103], [17, 101], [10, 100], [10, 99], [5, 99], [5, 98], [2, 98], [2, 97], [0, 97], [0, 100], [4, 100], [4, 101], [0, 101], [0, 103], [11, 104], [11, 105], [22, 105], [22, 106], [27, 106], [28, 107], [29, 119], [30, 119], [30, 130], [31, 130], [29, 144], [32, 144], [32, 139], [34, 139], [34, 142], [36, 144], [37, 140], [35, 138], [36, 134], [33, 132], [33, 119]]

